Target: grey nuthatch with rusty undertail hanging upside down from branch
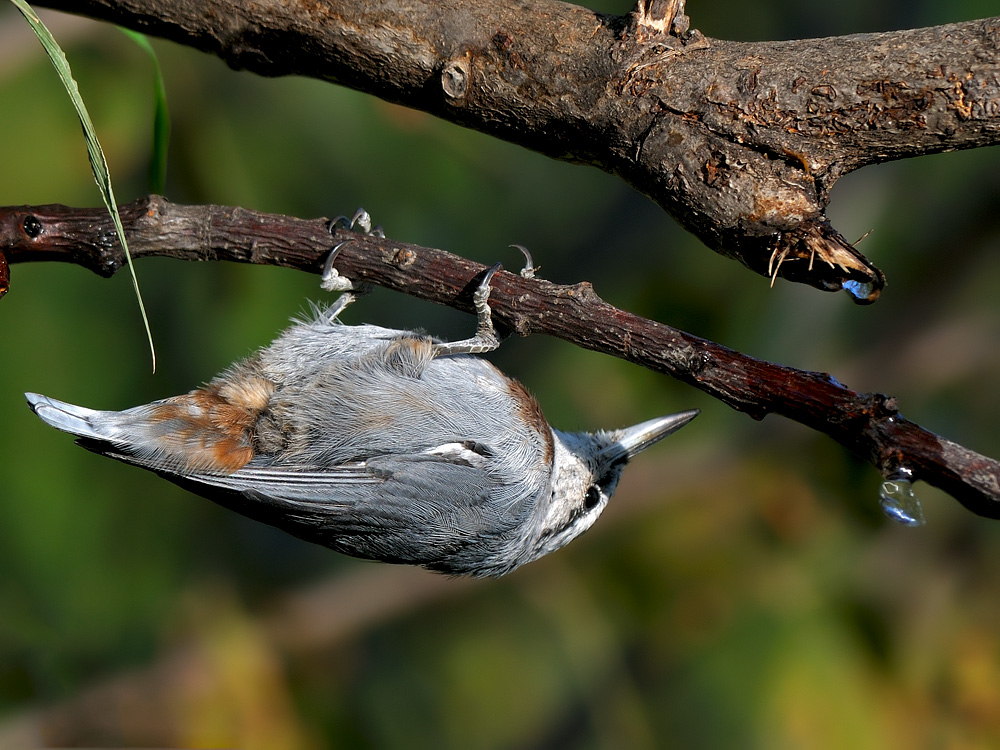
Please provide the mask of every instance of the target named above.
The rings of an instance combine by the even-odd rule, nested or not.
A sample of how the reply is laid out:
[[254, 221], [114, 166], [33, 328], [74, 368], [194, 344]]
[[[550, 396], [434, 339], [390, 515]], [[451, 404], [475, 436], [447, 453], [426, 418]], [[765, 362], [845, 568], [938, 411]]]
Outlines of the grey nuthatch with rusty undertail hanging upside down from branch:
[[[328, 289], [351, 288], [333, 268], [338, 248]], [[498, 267], [463, 341], [341, 324], [347, 292], [182, 396], [118, 412], [26, 396], [83, 447], [302, 539], [500, 576], [590, 528], [626, 462], [698, 412], [610, 432], [551, 427], [524, 386], [474, 356], [499, 346], [487, 304]]]

